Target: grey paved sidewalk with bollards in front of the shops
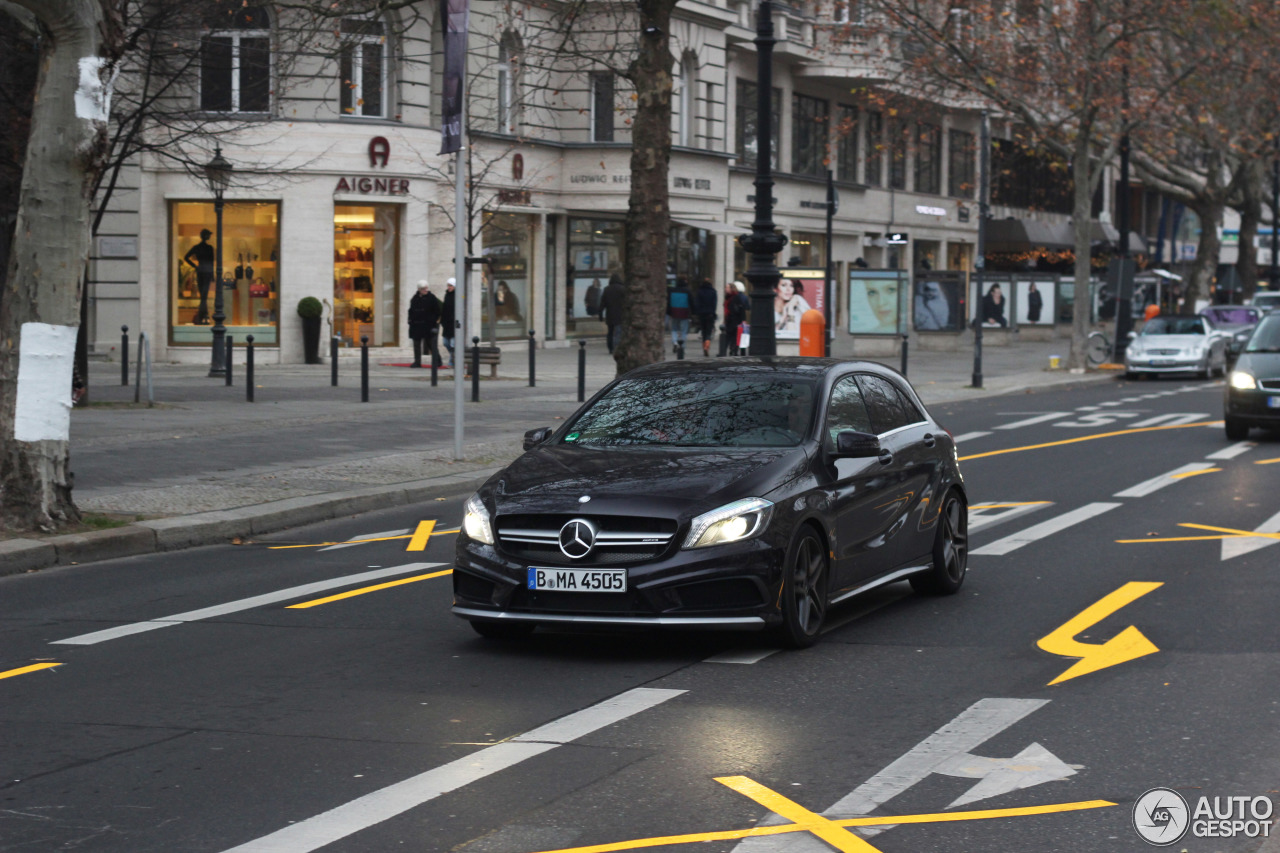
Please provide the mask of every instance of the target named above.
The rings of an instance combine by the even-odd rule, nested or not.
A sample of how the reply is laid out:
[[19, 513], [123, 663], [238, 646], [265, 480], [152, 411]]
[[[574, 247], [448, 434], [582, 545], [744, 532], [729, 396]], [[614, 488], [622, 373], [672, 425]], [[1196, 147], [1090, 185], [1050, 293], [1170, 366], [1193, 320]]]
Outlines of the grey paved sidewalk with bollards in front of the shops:
[[[1065, 355], [1065, 343], [984, 350], [982, 389], [968, 387], [972, 351], [913, 351], [908, 375], [927, 405], [1108, 378], [1050, 371], [1050, 355]], [[616, 369], [602, 341], [586, 352], [590, 397]], [[470, 491], [520, 455], [525, 430], [577, 409], [579, 347], [539, 350], [535, 388], [527, 359], [517, 343], [504, 348], [497, 379], [481, 366], [480, 402], [470, 402], [467, 380], [462, 460], [453, 452], [452, 371], [433, 388], [430, 370], [390, 366], [402, 357], [371, 353], [367, 403], [358, 359], [339, 361], [337, 388], [328, 364], [257, 365], [252, 403], [239, 348], [232, 387], [207, 368], [154, 365], [154, 407], [145, 387], [143, 402], [133, 402], [133, 365], [122, 387], [118, 362], [93, 362], [92, 405], [72, 412], [76, 502], [131, 524], [0, 540], [0, 574], [247, 539]]]

